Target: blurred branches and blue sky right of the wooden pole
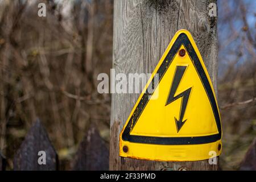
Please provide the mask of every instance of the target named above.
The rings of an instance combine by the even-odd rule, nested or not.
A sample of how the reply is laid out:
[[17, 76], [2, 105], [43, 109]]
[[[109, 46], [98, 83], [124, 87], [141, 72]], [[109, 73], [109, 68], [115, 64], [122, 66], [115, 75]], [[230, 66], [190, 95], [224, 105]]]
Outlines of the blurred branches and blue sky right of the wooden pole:
[[255, 1], [218, 1], [222, 169], [238, 169], [256, 136], [255, 7]]

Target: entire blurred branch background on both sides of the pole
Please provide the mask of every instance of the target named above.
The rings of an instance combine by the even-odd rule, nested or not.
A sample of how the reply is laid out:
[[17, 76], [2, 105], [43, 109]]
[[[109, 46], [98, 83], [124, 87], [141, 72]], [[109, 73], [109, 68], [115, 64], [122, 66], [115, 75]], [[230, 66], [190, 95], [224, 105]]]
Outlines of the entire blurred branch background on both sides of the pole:
[[[47, 5], [39, 17], [38, 3]], [[221, 169], [238, 169], [256, 136], [255, 1], [218, 1]], [[13, 156], [37, 117], [70, 169], [90, 123], [109, 144], [113, 0], [0, 0], [0, 150]]]

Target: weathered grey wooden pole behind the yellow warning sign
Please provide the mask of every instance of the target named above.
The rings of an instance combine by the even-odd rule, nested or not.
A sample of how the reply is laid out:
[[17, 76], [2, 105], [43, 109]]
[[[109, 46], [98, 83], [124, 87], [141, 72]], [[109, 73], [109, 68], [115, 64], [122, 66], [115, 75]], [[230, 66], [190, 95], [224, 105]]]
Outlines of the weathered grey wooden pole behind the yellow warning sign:
[[[177, 30], [191, 32], [217, 94], [217, 17], [209, 16], [216, 0], [115, 0], [113, 68], [117, 73], [152, 73]], [[139, 94], [112, 94], [110, 169], [216, 170], [208, 160], [155, 162], [121, 158], [119, 134]]]

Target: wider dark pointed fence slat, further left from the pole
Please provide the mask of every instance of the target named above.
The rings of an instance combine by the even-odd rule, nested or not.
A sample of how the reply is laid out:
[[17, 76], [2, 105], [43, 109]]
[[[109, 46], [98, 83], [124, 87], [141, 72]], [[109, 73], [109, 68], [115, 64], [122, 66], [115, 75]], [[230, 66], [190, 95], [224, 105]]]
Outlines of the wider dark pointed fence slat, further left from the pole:
[[[39, 151], [46, 152], [46, 164], [38, 163]], [[42, 123], [37, 119], [14, 156], [14, 170], [50, 171], [57, 169], [57, 163], [58, 157], [55, 148], [53, 148]]]

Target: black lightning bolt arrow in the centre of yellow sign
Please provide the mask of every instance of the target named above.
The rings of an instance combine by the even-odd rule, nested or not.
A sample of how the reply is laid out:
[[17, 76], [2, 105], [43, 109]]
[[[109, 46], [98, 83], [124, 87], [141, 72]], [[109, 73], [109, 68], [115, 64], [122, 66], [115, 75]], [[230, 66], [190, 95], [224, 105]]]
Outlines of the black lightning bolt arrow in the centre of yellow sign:
[[174, 80], [172, 81], [172, 85], [171, 85], [171, 90], [169, 93], [169, 97], [166, 101], [166, 106], [168, 104], [170, 104], [171, 102], [177, 100], [178, 98], [181, 98], [181, 106], [180, 106], [180, 118], [179, 120], [177, 120], [175, 117], [175, 123], [176, 123], [176, 128], [177, 128], [177, 133], [179, 133], [181, 127], [184, 125], [184, 123], [187, 121], [187, 119], [185, 119], [185, 121], [183, 120], [184, 117], [184, 113], [188, 104], [188, 98], [191, 92], [191, 88], [185, 90], [184, 92], [178, 94], [177, 96], [174, 97], [176, 90], [180, 84], [181, 78], [184, 75], [185, 70], [187, 69], [187, 66], [177, 66], [176, 67], [176, 71], [175, 71], [175, 75], [174, 75]]

